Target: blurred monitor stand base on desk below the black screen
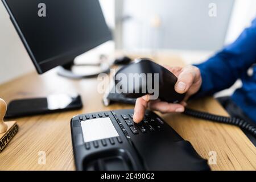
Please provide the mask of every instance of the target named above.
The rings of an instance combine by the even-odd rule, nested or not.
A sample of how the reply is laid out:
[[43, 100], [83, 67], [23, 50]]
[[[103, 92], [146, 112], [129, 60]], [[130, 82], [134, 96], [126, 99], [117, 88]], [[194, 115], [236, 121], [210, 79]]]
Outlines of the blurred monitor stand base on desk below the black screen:
[[[80, 67], [82, 72], [76, 72], [74, 67]], [[98, 64], [75, 64], [75, 61], [72, 60], [67, 64], [61, 65], [57, 72], [58, 75], [72, 78], [72, 79], [81, 79], [81, 78], [90, 78], [96, 77], [100, 73], [109, 73], [110, 65], [104, 61]]]

